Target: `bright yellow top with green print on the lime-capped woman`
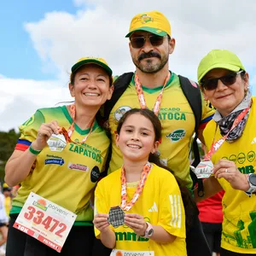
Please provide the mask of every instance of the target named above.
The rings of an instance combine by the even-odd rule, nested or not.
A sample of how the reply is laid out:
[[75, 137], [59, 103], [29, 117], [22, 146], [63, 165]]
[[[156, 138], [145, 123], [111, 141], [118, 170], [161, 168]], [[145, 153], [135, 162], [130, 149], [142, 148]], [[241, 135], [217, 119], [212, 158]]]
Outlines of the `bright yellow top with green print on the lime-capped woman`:
[[[255, 114], [256, 102], [253, 97], [253, 105], [242, 136], [234, 143], [224, 142], [212, 155], [213, 164], [220, 159], [232, 160], [240, 172], [256, 173], [256, 143], [251, 143], [256, 137]], [[212, 144], [215, 129], [216, 123], [211, 120], [203, 132], [207, 148]], [[217, 129], [215, 141], [221, 137]], [[241, 190], [232, 189], [224, 178], [218, 179], [218, 182], [225, 190], [222, 247], [232, 252], [256, 254], [256, 195], [249, 197]]]

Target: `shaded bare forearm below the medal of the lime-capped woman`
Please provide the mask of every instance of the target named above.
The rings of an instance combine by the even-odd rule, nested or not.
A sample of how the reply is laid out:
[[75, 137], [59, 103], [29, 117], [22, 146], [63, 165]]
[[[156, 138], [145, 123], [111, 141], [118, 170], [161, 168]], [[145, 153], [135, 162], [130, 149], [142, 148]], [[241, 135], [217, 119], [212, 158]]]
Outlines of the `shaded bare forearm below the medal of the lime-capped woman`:
[[204, 184], [205, 195], [203, 195], [202, 197], [199, 197], [197, 195], [197, 188], [194, 189], [193, 192], [194, 192], [194, 196], [195, 196], [195, 202], [203, 201], [203, 200], [211, 197], [212, 195], [215, 195], [220, 190], [222, 190], [221, 185], [218, 183], [218, 179], [215, 178], [214, 176], [207, 177], [204, 180], [203, 184]]

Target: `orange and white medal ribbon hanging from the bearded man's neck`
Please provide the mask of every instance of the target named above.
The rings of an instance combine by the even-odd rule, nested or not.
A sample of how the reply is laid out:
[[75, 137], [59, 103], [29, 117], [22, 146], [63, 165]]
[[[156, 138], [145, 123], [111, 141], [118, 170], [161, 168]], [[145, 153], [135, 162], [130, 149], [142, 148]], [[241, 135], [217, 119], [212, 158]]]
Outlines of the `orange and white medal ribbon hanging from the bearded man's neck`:
[[[159, 110], [160, 110], [160, 105], [161, 105], [161, 100], [162, 100], [162, 97], [163, 97], [163, 92], [164, 92], [164, 89], [165, 89], [166, 84], [169, 81], [170, 77], [171, 77], [171, 74], [168, 71], [165, 84], [164, 84], [162, 90], [160, 90], [160, 94], [159, 94], [159, 96], [157, 96], [156, 102], [154, 103], [153, 111], [154, 111], [154, 114], [156, 116], [158, 116], [158, 113], [159, 113]], [[145, 97], [144, 97], [144, 94], [143, 94], [143, 86], [142, 86], [140, 80], [137, 77], [137, 73], [135, 73], [134, 82], [135, 82], [135, 87], [136, 87], [136, 91], [137, 91], [137, 97], [138, 97], [138, 100], [140, 102], [141, 108], [147, 108]]]

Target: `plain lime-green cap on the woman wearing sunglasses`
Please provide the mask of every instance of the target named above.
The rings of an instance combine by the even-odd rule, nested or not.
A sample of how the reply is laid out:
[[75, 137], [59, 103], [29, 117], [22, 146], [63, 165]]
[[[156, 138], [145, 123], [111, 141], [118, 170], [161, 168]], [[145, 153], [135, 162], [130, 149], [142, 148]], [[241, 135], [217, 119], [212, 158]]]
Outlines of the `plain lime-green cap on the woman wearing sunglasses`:
[[203, 57], [197, 68], [197, 79], [201, 79], [214, 68], [224, 68], [230, 71], [238, 72], [245, 70], [240, 59], [227, 49], [212, 49], [206, 56]]

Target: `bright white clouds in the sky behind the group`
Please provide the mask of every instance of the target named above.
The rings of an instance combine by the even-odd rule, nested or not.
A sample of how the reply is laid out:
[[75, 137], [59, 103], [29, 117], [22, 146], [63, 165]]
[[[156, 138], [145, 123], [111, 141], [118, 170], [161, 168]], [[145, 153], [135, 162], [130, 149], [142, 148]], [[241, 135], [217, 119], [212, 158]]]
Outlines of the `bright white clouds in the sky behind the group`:
[[[82, 56], [105, 58], [114, 74], [133, 71], [125, 34], [134, 15], [154, 9], [171, 21], [172, 37], [176, 38], [176, 48], [169, 60], [172, 71], [196, 79], [201, 58], [211, 49], [218, 48], [234, 51], [247, 69], [256, 67], [254, 0], [73, 0], [73, 3], [79, 8], [75, 15], [50, 12], [42, 20], [25, 24], [42, 59], [44, 73], [58, 74], [58, 79], [65, 82], [30, 81], [30, 84], [23, 80], [19, 88], [13, 80], [9, 82], [13, 83], [9, 84], [11, 93], [2, 91], [1, 85], [0, 92], [5, 96], [0, 96], [3, 100], [0, 111], [7, 104], [15, 104], [14, 98], [20, 98], [22, 90], [29, 95], [24, 96], [24, 104], [32, 102], [40, 108], [64, 100], [70, 67]], [[253, 74], [251, 81], [256, 84]], [[58, 90], [61, 91], [60, 99], [56, 96]]]

